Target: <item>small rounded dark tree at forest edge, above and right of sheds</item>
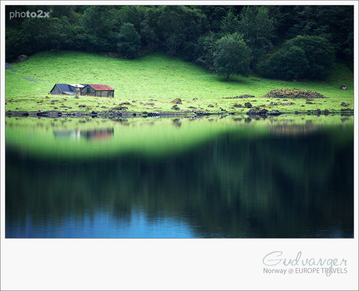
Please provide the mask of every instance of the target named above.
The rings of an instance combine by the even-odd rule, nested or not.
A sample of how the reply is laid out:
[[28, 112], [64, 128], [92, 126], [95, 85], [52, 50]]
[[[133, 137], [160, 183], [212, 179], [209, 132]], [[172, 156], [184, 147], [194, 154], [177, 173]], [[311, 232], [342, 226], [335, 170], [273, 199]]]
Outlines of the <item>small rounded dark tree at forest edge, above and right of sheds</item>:
[[133, 27], [132, 23], [124, 23], [118, 34], [117, 51], [122, 53], [125, 58], [133, 59], [138, 56], [141, 50], [140, 35]]

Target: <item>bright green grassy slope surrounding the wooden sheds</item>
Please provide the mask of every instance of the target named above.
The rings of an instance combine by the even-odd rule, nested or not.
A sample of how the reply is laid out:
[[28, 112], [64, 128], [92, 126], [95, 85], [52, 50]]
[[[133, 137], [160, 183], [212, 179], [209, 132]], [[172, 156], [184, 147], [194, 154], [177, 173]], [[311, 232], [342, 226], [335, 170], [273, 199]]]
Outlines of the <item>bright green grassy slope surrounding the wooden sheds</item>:
[[[128, 101], [131, 103], [128, 111], [175, 112], [171, 109], [174, 104], [170, 103], [175, 98], [182, 100], [182, 104], [178, 105], [180, 110], [192, 110], [189, 108], [192, 106], [209, 112], [221, 112], [220, 108], [223, 108], [228, 112], [245, 113], [248, 109], [233, 107], [235, 103], [244, 105], [245, 102], [284, 112], [317, 108], [340, 110], [343, 108], [342, 102], [354, 108], [354, 75], [343, 64], [336, 64], [328, 81], [297, 82], [265, 79], [256, 75], [249, 78], [237, 76], [228, 82], [224, 77], [207, 72], [194, 63], [163, 54], [126, 60], [80, 51], [44, 51], [29, 57], [27, 61], [12, 65], [17, 72], [5, 70], [6, 111], [56, 110], [55, 107], [61, 110], [62, 105], [71, 107], [67, 109], [69, 112], [84, 111], [84, 108], [79, 108], [82, 104], [90, 106], [91, 110], [102, 111]], [[25, 78], [43, 81], [33, 82]], [[256, 78], [261, 81], [255, 81]], [[114, 88], [114, 98], [51, 96], [49, 91], [55, 83], [107, 84]], [[340, 89], [342, 83], [348, 90]], [[295, 99], [295, 105], [290, 106], [269, 106], [275, 100], [260, 98], [277, 88], [306, 89], [329, 98], [314, 99], [314, 104], [306, 104], [306, 99]], [[244, 94], [255, 98], [225, 99]], [[194, 101], [195, 97], [198, 100]], [[58, 101], [50, 104], [53, 99]], [[209, 104], [214, 107], [208, 107]]]

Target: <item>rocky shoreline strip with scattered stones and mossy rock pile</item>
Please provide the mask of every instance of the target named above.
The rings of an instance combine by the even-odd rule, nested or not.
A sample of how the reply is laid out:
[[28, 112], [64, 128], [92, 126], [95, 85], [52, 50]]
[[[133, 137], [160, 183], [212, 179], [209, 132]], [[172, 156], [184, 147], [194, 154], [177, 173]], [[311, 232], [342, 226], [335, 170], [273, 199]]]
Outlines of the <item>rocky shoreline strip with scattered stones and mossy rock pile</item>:
[[[42, 109], [39, 109], [37, 111], [11, 111], [8, 110], [5, 112], [6, 116], [31, 116], [31, 117], [85, 117], [85, 116], [90, 116], [90, 117], [100, 117], [100, 118], [130, 118], [130, 117], [177, 117], [177, 116], [208, 116], [208, 115], [221, 115], [221, 116], [225, 116], [225, 115], [261, 115], [261, 116], [273, 116], [273, 115], [281, 115], [281, 114], [314, 114], [314, 115], [328, 115], [328, 114], [340, 114], [340, 115], [354, 115], [354, 109], [350, 109], [348, 106], [350, 105], [349, 103], [346, 104], [344, 102], [341, 103], [341, 106], [343, 106], [343, 108], [341, 109], [325, 109], [325, 110], [321, 110], [319, 108], [317, 109], [312, 109], [308, 110], [306, 109], [305, 105], [301, 105], [300, 110], [298, 110], [298, 106], [295, 107], [295, 109], [274, 109], [274, 106], [280, 106], [280, 105], [295, 105], [294, 102], [296, 98], [306, 98], [306, 104], [315, 104], [315, 102], [313, 103], [312, 101], [314, 100], [314, 98], [327, 98], [317, 92], [314, 91], [310, 91], [310, 90], [299, 90], [299, 89], [275, 89], [272, 90], [270, 92], [268, 92], [267, 94], [259, 97], [259, 98], [268, 98], [269, 100], [266, 101], [270, 101], [269, 104], [262, 104], [262, 105], [252, 105], [251, 102], [257, 102], [257, 100], [251, 100], [251, 102], [245, 102], [244, 105], [242, 104], [237, 104], [237, 103], [232, 103], [233, 105], [231, 105], [232, 107], [225, 107], [225, 108], [221, 108], [218, 107], [219, 110], [216, 110], [216, 112], [210, 111], [208, 109], [204, 109], [204, 108], [200, 108], [200, 110], [198, 110], [196, 107], [194, 106], [189, 106], [187, 110], [180, 110], [178, 104], [182, 104], [182, 100], [180, 98], [176, 98], [172, 101], [170, 101], [170, 103], [174, 103], [175, 105], [171, 106], [171, 109], [174, 111], [171, 112], [157, 112], [154, 111], [156, 109], [156, 107], [153, 108], [146, 108], [147, 111], [135, 111], [135, 110], [131, 110], [130, 106], [132, 105], [132, 103], [126, 101], [126, 102], [122, 102], [119, 103], [118, 105], [112, 107], [111, 109], [107, 109], [107, 110], [102, 110], [102, 111], [96, 111], [93, 110], [91, 108], [91, 106], [85, 105], [85, 104], [80, 104], [79, 103], [75, 103], [76, 105], [78, 105], [79, 108], [83, 109], [83, 111], [67, 111], [68, 109], [72, 109], [72, 107], [70, 106], [65, 106], [64, 103], [62, 103], [63, 105], [60, 106], [60, 108], [65, 108], [65, 109], [60, 109], [57, 110], [57, 107], [54, 107], [55, 110], [49, 110], [49, 111], [44, 111]], [[45, 98], [48, 98], [48, 96], [46, 96]], [[76, 98], [76, 97], [75, 97]], [[78, 97], [77, 97], [78, 98]], [[255, 96], [253, 95], [241, 95], [241, 96], [236, 96], [236, 97], [226, 97], [226, 99], [234, 99], [236, 98], [238, 101], [239, 99], [245, 99], [245, 98], [255, 98]], [[276, 101], [271, 101], [270, 99], [273, 100], [273, 98], [276, 98]], [[286, 98], [291, 98], [292, 101], [288, 101], [288, 99]], [[282, 101], [286, 101], [286, 102], [281, 102], [281, 101], [277, 101], [282, 99]], [[63, 100], [59, 101], [58, 99], [54, 99], [54, 100], [50, 100], [50, 102], [48, 102], [48, 104], [55, 104], [55, 102], [64, 102], [65, 100], [67, 100], [66, 98], [63, 98]], [[198, 98], [193, 98], [194, 101], [198, 100]], [[7, 102], [12, 102], [12, 99], [8, 99]], [[150, 99], [150, 101], [157, 101], [154, 99]], [[237, 101], [237, 102], [238, 102]], [[40, 104], [43, 102], [43, 99], [41, 101], [38, 101], [37, 103], [39, 103], [39, 106], [41, 106]], [[136, 101], [132, 101], [132, 102], [136, 102]], [[326, 101], [324, 101], [326, 102]], [[141, 104], [144, 104], [143, 102], [140, 102]], [[187, 101], [187, 103], [191, 103], [189, 101]], [[303, 103], [303, 102], [301, 102]], [[100, 104], [100, 103], [98, 103]], [[261, 103], [260, 103], [261, 104]], [[319, 105], [321, 105], [322, 103], [318, 103]], [[6, 105], [6, 102], [5, 102]], [[114, 103], [115, 105], [115, 103]], [[155, 103], [150, 103], [147, 102], [144, 105], [148, 105], [148, 106], [154, 106]], [[203, 105], [202, 105], [203, 106]], [[223, 106], [223, 105], [222, 105]], [[96, 107], [99, 107], [96, 106]], [[214, 107], [212, 104], [208, 105], [207, 107]], [[217, 107], [217, 103], [215, 103], [215, 107]], [[287, 107], [287, 106], [286, 106]], [[292, 106], [289, 106], [292, 107]], [[106, 106], [101, 106], [101, 108], [107, 108]], [[237, 111], [235, 108], [243, 108], [240, 111]], [[278, 107], [277, 107], [278, 108]], [[16, 108], [16, 110], [18, 110], [19, 108]], [[191, 110], [189, 110], [191, 109]], [[280, 111], [283, 110], [283, 111]]]

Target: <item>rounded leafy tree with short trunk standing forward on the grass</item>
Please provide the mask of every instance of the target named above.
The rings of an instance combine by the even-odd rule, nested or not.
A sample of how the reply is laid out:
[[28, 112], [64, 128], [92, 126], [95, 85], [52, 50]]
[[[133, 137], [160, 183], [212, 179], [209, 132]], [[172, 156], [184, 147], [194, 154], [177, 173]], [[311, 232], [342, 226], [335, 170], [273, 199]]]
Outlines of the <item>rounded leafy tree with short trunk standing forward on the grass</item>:
[[238, 33], [223, 36], [215, 43], [214, 71], [231, 81], [233, 75], [249, 76], [250, 49]]

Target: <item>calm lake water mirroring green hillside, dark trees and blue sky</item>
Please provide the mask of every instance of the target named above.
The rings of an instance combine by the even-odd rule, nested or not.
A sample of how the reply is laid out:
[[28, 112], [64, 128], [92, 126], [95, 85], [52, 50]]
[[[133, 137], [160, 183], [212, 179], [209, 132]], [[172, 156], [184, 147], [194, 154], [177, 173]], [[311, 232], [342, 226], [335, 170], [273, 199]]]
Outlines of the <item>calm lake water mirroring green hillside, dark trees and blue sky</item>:
[[353, 238], [354, 118], [5, 119], [6, 238]]

